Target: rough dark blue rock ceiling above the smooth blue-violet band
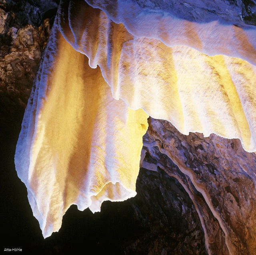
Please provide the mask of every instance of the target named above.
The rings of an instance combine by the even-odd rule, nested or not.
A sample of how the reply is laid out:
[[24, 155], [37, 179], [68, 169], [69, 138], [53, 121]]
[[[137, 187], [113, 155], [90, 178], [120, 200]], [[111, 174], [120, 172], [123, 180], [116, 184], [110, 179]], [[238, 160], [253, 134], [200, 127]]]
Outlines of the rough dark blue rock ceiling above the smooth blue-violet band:
[[[141, 7], [156, 10], [177, 10], [176, 15], [191, 21], [210, 22], [219, 18], [222, 21], [231, 21], [234, 24], [256, 24], [255, 0], [133, 0]], [[175, 8], [174, 8], [175, 6]]]

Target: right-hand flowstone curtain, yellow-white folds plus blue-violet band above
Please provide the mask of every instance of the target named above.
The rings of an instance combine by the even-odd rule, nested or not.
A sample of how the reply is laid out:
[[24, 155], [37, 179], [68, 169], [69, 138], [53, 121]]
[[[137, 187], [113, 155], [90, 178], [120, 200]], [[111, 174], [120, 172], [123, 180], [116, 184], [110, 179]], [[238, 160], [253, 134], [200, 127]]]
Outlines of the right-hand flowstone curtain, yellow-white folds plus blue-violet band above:
[[[115, 99], [170, 121], [186, 135], [200, 132], [240, 138], [246, 151], [256, 151], [254, 28], [218, 21], [196, 27], [168, 14], [140, 11], [130, 1], [117, 1], [116, 6], [95, 2], [93, 6], [107, 11], [113, 6], [110, 17], [126, 27], [86, 2], [74, 0], [60, 3], [58, 24], [64, 38], [88, 56], [89, 65], [100, 66]], [[186, 32], [193, 24], [194, 33]], [[252, 64], [224, 55], [209, 57], [190, 48], [198, 45], [203, 53], [211, 50], [210, 55], [227, 54]]]

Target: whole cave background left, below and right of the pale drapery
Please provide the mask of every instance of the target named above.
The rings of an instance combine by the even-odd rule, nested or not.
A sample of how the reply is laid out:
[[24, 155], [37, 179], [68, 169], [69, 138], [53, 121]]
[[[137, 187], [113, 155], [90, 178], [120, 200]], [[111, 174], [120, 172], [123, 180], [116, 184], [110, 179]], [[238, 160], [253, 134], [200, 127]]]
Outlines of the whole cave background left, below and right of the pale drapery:
[[[1, 216], [5, 234], [1, 247], [20, 245], [37, 254], [66, 254], [86, 245], [112, 254], [255, 254], [255, 153], [243, 151], [239, 140], [199, 133], [186, 136], [170, 123], [153, 119], [144, 137], [142, 166], [158, 172], [141, 169], [138, 195], [122, 203], [105, 202], [101, 213], [94, 215], [73, 206], [64, 215], [60, 232], [42, 239], [13, 159], [40, 59], [34, 53], [46, 44], [50, 20], [37, 30], [42, 20], [41, 24], [26, 24], [28, 20], [19, 18], [24, 14], [31, 21], [36, 19], [34, 12], [28, 15], [27, 8], [18, 7], [10, 10], [6, 2], [0, 1], [4, 20], [0, 22]], [[253, 3], [244, 1], [244, 6], [251, 4], [249, 10], [253, 10]], [[248, 19], [253, 20], [253, 15]], [[14, 17], [14, 23], [8, 17]], [[17, 39], [13, 28], [24, 37]], [[18, 42], [17, 46], [12, 42]], [[12, 48], [17, 49], [16, 55]], [[8, 90], [9, 81], [12, 88]]]

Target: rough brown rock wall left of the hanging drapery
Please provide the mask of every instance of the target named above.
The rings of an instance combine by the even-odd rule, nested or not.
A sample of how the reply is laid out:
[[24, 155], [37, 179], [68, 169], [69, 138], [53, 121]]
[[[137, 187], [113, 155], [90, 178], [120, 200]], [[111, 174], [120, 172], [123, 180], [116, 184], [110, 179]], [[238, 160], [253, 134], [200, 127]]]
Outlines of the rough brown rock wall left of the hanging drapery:
[[42, 11], [26, 1], [0, 2], [1, 121], [8, 111], [26, 108], [41, 51], [50, 33], [49, 18], [40, 24]]

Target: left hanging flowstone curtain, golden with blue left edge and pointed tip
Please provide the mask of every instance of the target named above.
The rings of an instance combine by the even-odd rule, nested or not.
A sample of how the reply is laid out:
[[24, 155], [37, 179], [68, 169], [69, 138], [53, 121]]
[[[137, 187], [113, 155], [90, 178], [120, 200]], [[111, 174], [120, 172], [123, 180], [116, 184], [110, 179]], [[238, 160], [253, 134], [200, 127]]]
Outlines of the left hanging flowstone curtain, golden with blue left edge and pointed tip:
[[114, 100], [100, 68], [90, 68], [54, 26], [15, 156], [44, 237], [60, 229], [72, 204], [95, 212], [105, 200], [136, 195], [147, 118]]

